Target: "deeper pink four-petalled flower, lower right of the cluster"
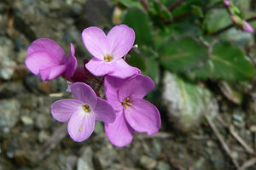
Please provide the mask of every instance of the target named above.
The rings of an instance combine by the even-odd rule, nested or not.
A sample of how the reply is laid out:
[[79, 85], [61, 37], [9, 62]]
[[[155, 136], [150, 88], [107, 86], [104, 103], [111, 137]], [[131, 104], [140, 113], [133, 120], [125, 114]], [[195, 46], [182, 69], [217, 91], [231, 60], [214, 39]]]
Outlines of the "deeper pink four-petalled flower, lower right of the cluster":
[[105, 77], [106, 98], [116, 111], [113, 123], [105, 123], [110, 142], [116, 146], [130, 144], [134, 131], [153, 135], [160, 129], [160, 113], [143, 97], [154, 88], [154, 82], [146, 76], [129, 79]]

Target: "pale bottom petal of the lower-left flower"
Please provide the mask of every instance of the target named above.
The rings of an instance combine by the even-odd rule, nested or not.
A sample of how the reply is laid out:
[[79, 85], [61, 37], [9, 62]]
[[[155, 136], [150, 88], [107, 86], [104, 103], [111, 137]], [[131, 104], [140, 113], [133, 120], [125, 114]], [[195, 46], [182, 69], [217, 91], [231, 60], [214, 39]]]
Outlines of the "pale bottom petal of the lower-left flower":
[[70, 137], [76, 142], [82, 142], [88, 137], [94, 130], [95, 115], [94, 113], [85, 113], [83, 110], [73, 113], [68, 125], [67, 131]]

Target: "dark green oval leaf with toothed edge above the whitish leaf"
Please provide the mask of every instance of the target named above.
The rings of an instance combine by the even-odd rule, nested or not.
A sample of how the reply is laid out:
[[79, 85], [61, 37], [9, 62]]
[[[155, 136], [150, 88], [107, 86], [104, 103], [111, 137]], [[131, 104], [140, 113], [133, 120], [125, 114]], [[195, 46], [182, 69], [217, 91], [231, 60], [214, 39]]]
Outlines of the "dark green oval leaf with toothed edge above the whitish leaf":
[[207, 47], [189, 37], [178, 40], [171, 38], [163, 42], [158, 51], [160, 64], [169, 71], [177, 72], [195, 67], [207, 56]]

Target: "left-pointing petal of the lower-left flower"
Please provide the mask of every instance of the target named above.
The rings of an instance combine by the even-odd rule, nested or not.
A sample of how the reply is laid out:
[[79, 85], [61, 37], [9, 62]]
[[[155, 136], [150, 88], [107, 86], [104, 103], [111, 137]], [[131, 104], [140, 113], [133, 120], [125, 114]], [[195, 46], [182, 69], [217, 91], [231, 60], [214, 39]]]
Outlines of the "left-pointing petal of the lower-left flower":
[[51, 114], [59, 122], [67, 122], [74, 112], [80, 111], [83, 102], [76, 99], [61, 99], [51, 105]]

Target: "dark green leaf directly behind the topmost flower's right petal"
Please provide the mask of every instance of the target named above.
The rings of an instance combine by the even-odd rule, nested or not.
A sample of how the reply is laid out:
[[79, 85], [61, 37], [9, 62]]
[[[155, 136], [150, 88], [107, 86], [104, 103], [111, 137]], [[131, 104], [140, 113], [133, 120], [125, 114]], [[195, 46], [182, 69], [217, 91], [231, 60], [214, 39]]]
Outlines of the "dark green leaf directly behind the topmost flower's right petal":
[[133, 28], [136, 33], [135, 43], [138, 46], [153, 46], [153, 33], [148, 15], [138, 8], [129, 8], [125, 14], [124, 23]]

